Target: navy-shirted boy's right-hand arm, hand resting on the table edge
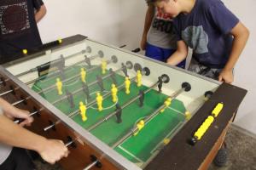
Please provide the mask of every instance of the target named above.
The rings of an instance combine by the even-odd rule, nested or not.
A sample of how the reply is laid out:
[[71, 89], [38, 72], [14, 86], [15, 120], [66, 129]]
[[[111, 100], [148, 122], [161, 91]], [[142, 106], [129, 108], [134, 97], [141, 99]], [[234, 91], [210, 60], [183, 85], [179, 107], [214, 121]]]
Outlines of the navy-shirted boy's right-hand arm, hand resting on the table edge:
[[231, 83], [234, 81], [233, 77], [233, 68], [236, 65], [243, 48], [246, 45], [247, 39], [249, 37], [249, 31], [241, 22], [239, 22], [230, 32], [233, 37], [233, 44], [230, 53], [230, 58], [226, 65], [224, 66], [223, 71], [219, 74], [218, 81], [224, 81]]

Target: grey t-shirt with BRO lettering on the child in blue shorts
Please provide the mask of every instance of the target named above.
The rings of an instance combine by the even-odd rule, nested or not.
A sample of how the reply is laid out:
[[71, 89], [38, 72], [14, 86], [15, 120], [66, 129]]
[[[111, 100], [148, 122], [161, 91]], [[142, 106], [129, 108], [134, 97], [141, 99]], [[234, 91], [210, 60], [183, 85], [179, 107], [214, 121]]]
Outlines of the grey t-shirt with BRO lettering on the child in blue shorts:
[[176, 49], [177, 47], [172, 18], [170, 15], [162, 13], [160, 8], [155, 8], [147, 41], [160, 48]]

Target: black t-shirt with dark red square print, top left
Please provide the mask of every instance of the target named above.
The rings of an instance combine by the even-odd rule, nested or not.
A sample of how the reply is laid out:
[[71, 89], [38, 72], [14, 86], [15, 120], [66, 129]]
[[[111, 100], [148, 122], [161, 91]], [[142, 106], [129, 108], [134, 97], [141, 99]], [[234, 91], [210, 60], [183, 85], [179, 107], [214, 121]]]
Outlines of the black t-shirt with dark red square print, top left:
[[34, 10], [42, 4], [41, 0], [0, 1], [0, 62], [24, 48], [42, 45], [34, 19]]

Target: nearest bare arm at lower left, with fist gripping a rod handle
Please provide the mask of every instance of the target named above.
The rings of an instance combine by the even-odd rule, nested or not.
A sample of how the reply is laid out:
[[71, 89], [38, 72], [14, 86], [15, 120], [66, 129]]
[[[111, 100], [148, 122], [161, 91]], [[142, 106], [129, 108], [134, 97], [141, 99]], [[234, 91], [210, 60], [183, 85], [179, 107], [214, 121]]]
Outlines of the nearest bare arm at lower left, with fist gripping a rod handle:
[[45, 161], [55, 163], [67, 156], [67, 147], [60, 140], [45, 139], [26, 128], [16, 125], [6, 116], [0, 115], [0, 142], [37, 151]]

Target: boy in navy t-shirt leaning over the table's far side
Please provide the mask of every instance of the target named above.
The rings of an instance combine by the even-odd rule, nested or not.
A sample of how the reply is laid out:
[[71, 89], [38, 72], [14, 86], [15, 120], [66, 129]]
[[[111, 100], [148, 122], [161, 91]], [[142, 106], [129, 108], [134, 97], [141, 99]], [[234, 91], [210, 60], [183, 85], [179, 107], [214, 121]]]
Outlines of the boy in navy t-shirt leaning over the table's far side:
[[177, 51], [167, 59], [177, 65], [193, 49], [190, 71], [221, 82], [234, 81], [233, 69], [246, 45], [249, 31], [220, 0], [148, 0], [171, 14]]

